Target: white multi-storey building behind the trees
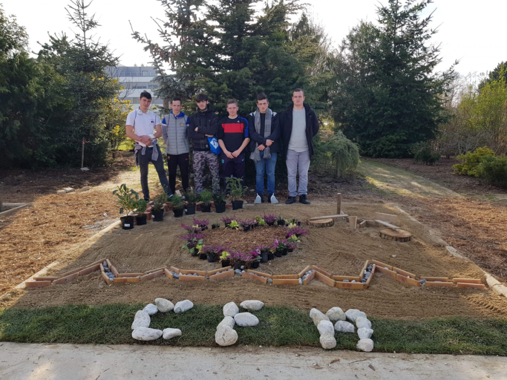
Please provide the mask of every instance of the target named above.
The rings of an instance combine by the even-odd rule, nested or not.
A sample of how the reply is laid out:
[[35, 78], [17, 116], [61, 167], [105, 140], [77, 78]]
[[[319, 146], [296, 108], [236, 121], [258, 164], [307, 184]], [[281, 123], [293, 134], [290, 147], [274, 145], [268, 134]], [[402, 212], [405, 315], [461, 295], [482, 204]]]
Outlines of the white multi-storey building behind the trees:
[[143, 91], [152, 94], [152, 106], [160, 109], [163, 106], [163, 99], [155, 96], [155, 90], [158, 84], [152, 82], [157, 76], [155, 67], [153, 66], [121, 66], [108, 67], [107, 72], [112, 78], [117, 78], [124, 90], [120, 94], [123, 100], [130, 100], [130, 104], [137, 108], [139, 106], [139, 95]]

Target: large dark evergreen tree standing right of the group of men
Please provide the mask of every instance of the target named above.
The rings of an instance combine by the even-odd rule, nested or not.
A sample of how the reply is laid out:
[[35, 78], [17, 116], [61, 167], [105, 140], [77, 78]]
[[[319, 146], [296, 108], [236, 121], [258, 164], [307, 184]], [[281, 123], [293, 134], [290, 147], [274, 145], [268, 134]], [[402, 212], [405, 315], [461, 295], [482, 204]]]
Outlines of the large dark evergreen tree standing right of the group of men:
[[436, 30], [431, 15], [420, 17], [432, 1], [403, 3], [378, 7], [378, 26], [352, 29], [335, 65], [335, 119], [367, 156], [407, 157], [410, 145], [433, 138], [446, 121], [440, 96], [453, 70], [434, 72]]

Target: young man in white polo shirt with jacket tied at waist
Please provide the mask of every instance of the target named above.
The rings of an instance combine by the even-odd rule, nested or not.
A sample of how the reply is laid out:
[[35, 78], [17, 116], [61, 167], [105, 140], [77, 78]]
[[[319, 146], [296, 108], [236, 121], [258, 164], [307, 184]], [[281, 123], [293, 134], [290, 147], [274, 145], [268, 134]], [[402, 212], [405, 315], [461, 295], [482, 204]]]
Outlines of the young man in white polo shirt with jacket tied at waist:
[[141, 172], [141, 188], [144, 199], [150, 200], [148, 188], [148, 164], [151, 162], [157, 170], [160, 184], [169, 197], [172, 196], [169, 181], [165, 175], [164, 159], [158, 146], [157, 138], [162, 137], [162, 122], [159, 116], [150, 111], [152, 95], [141, 92], [139, 96], [139, 109], [130, 112], [127, 116], [127, 137], [135, 140], [135, 164]]

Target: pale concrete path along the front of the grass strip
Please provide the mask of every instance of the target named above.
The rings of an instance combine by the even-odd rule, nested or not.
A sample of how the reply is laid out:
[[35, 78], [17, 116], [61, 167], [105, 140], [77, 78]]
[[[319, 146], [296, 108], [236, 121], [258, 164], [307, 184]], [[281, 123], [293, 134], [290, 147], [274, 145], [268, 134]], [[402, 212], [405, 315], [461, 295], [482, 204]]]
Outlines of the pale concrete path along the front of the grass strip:
[[330, 352], [297, 347], [180, 349], [0, 343], [2, 380], [155, 378], [502, 380], [507, 379], [507, 358]]

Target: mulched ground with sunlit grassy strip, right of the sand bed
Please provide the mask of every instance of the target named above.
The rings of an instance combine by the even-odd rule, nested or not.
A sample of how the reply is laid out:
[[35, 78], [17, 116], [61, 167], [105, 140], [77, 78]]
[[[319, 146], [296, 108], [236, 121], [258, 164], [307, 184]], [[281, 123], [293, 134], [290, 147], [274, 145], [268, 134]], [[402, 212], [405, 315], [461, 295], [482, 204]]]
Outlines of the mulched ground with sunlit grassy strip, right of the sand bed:
[[[458, 193], [449, 188], [450, 184], [442, 185], [437, 180], [379, 162], [363, 160], [358, 171], [385, 198], [400, 204], [449, 245], [505, 282], [507, 203]], [[459, 189], [459, 186], [454, 187]]]

